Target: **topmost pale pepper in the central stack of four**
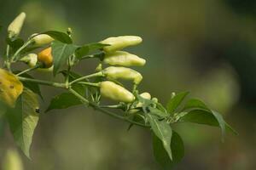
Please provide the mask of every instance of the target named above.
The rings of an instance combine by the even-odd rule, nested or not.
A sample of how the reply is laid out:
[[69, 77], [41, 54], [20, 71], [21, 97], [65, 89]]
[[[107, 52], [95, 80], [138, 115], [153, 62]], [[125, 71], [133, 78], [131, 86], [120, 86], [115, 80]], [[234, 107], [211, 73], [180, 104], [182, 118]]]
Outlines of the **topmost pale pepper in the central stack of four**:
[[103, 50], [106, 53], [113, 53], [117, 50], [129, 47], [129, 46], [134, 46], [141, 42], [143, 42], [143, 39], [141, 37], [121, 36], [121, 37], [108, 37], [107, 39], [103, 40], [101, 43], [110, 45], [103, 48]]

